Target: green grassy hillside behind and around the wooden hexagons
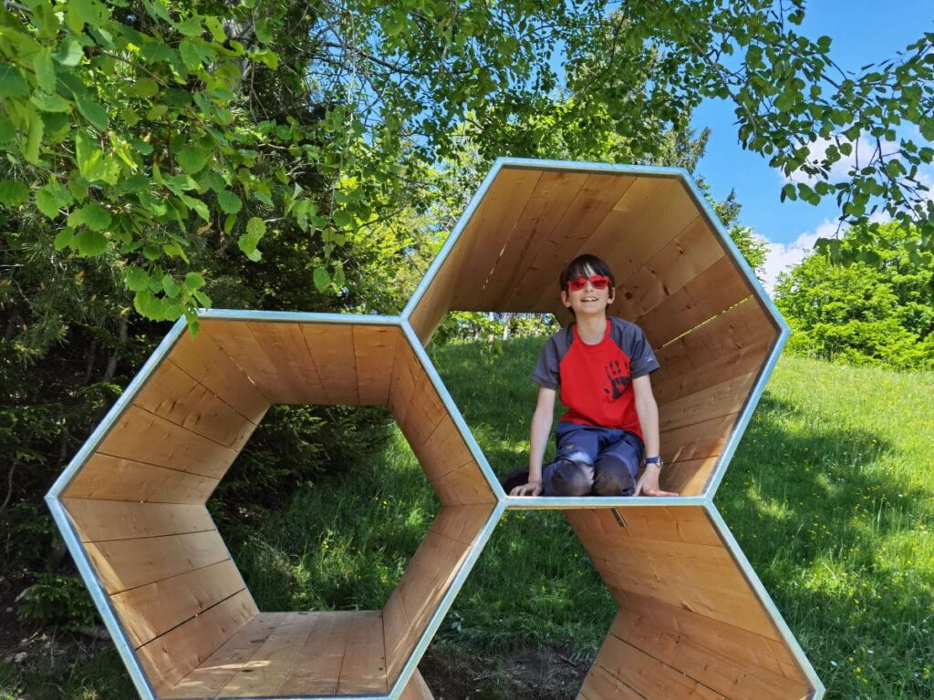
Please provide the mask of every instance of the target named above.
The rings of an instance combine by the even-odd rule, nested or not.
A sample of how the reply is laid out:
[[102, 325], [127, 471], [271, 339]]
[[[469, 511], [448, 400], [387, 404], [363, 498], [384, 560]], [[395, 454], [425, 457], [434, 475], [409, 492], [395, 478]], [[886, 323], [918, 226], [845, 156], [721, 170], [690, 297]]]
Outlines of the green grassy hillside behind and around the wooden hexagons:
[[[540, 344], [432, 350], [501, 473], [526, 462], [535, 399], [527, 377]], [[785, 357], [716, 497], [828, 698], [931, 697], [932, 396], [932, 374]], [[437, 508], [396, 432], [340, 479], [300, 485], [289, 508], [255, 517], [259, 530], [228, 525], [227, 541], [261, 608], [375, 608]], [[596, 651], [614, 611], [559, 512], [511, 511], [432, 653], [446, 661], [493, 652], [515, 659], [547, 646], [573, 665]], [[497, 685], [495, 664], [487, 666], [492, 680], [472, 696], [510, 697]], [[515, 675], [511, 665], [500, 678]], [[129, 696], [128, 688], [112, 652], [96, 665], [40, 662], [28, 672], [0, 658], [2, 700], [93, 700]]]

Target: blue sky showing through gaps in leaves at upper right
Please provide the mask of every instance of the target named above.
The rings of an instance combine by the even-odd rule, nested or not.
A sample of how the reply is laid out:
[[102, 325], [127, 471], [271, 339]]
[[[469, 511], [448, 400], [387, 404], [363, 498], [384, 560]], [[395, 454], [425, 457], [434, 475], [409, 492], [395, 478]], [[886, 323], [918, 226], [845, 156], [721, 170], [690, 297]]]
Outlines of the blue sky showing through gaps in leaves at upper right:
[[[807, 5], [800, 32], [811, 38], [833, 39], [831, 55], [842, 68], [858, 70], [882, 61], [899, 49], [934, 31], [934, 0], [812, 0]], [[732, 107], [710, 101], [695, 112], [699, 130], [712, 129], [704, 158], [696, 174], [713, 188], [717, 199], [735, 189], [743, 204], [741, 223], [752, 227], [771, 243], [767, 287], [777, 273], [804, 257], [818, 235], [836, 231], [838, 212], [832, 198], [819, 206], [779, 202], [783, 176], [755, 153], [740, 147], [733, 125]]]

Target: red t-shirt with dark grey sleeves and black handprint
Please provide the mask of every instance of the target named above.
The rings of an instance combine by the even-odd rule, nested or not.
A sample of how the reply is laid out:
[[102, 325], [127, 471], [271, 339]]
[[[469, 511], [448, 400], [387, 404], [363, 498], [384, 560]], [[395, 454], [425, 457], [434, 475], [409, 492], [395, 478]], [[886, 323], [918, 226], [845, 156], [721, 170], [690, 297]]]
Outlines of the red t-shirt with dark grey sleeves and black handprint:
[[642, 439], [632, 380], [658, 368], [643, 330], [610, 316], [601, 342], [594, 345], [580, 339], [577, 324], [555, 333], [542, 348], [531, 379], [559, 389], [568, 408], [562, 421], [622, 428]]

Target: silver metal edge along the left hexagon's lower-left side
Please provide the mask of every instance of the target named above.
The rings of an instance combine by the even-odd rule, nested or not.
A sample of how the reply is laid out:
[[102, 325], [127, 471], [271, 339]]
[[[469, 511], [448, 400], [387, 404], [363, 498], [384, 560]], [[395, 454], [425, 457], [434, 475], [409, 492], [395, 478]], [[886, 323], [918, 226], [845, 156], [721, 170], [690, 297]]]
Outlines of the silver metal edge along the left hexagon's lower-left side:
[[55, 524], [58, 525], [59, 532], [62, 533], [62, 538], [64, 539], [65, 545], [68, 547], [68, 551], [75, 560], [78, 573], [81, 575], [85, 586], [87, 586], [91, 593], [94, 605], [104, 621], [107, 632], [110, 634], [110, 638], [117, 647], [118, 653], [120, 653], [123, 665], [126, 666], [130, 674], [130, 679], [133, 680], [136, 691], [144, 700], [159, 700], [157, 694], [149, 684], [149, 678], [147, 678], [146, 672], [143, 670], [139, 659], [136, 657], [133, 645], [124, 632], [123, 625], [120, 624], [120, 620], [117, 618], [117, 613], [110, 603], [110, 597], [106, 595], [104, 590], [104, 584], [98, 578], [97, 571], [92, 566], [87, 550], [85, 550], [80, 538], [78, 538], [78, 533], [75, 532], [74, 525], [72, 525], [67, 511], [65, 511], [62, 501], [59, 500], [58, 497], [47, 496], [46, 503], [49, 506]]

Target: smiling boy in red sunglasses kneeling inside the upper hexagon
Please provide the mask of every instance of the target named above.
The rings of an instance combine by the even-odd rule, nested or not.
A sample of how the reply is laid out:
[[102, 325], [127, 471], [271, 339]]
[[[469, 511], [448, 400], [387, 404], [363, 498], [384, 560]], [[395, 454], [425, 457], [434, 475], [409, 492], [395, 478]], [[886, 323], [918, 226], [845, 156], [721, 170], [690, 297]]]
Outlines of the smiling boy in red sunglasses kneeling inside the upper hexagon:
[[[616, 294], [613, 271], [582, 255], [561, 271], [560, 284], [574, 323], [545, 343], [531, 374], [539, 390], [528, 483], [509, 495], [677, 496], [658, 487], [658, 406], [648, 376], [658, 360], [642, 329], [606, 315]], [[568, 411], [555, 429], [558, 455], [543, 467], [558, 390]]]

